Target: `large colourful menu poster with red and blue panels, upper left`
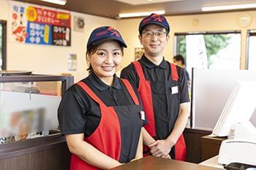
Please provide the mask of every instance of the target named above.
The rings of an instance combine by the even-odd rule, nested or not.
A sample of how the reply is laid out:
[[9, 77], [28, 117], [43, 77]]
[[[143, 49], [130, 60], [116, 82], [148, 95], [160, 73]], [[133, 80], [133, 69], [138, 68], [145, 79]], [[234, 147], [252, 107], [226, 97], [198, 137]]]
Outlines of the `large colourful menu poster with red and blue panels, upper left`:
[[48, 7], [10, 1], [11, 42], [71, 46], [71, 15]]

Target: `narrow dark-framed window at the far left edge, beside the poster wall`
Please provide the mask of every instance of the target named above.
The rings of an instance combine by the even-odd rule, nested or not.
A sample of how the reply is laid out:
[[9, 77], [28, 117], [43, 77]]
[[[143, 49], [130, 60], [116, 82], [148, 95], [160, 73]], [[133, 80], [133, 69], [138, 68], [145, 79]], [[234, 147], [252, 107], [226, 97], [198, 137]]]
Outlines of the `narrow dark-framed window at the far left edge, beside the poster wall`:
[[0, 70], [7, 69], [7, 22], [0, 20]]

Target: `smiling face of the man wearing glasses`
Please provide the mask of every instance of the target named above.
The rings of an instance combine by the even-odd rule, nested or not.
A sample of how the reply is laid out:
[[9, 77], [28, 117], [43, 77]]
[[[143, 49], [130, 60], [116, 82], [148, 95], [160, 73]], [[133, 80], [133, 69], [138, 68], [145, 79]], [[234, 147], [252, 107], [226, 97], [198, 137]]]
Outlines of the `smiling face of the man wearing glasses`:
[[143, 45], [145, 54], [150, 57], [162, 57], [169, 37], [166, 29], [156, 24], [149, 24], [139, 35], [140, 44]]

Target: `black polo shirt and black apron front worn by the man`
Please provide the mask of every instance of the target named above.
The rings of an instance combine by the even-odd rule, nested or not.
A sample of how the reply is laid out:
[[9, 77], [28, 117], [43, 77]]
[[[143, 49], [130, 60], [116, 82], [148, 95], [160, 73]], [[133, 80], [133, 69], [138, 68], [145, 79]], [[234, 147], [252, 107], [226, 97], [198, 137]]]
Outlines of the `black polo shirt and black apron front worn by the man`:
[[[179, 104], [189, 101], [186, 74], [184, 69], [176, 66], [178, 82], [173, 82], [171, 80], [170, 63], [165, 61], [165, 59], [157, 66], [143, 55], [139, 62], [145, 79], [151, 82], [151, 91], [154, 91], [152, 93], [152, 101], [157, 139], [165, 139], [170, 135], [176, 123]], [[132, 85], [135, 85], [135, 88], [139, 87], [139, 77], [133, 64], [129, 64], [129, 66], [121, 71], [121, 77], [129, 80]], [[171, 91], [175, 85], [178, 86], [177, 94], [173, 94]]]

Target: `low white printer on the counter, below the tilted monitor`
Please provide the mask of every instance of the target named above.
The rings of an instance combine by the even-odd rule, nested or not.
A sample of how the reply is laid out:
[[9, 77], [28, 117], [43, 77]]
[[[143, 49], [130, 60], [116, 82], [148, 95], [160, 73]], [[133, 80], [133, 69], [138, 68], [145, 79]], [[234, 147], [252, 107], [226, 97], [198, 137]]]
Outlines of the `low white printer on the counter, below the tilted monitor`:
[[218, 163], [234, 162], [256, 166], [256, 128], [250, 122], [238, 123], [233, 139], [224, 140], [219, 148]]

